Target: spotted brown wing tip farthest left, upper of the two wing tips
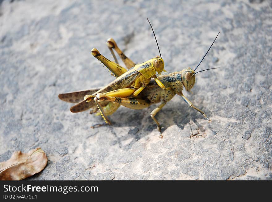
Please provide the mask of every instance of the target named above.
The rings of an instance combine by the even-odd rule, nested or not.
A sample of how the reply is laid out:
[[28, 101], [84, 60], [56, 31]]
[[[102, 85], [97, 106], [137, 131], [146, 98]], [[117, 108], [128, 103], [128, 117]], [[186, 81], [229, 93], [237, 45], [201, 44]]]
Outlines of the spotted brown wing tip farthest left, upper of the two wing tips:
[[83, 90], [83, 91], [76, 91], [76, 92], [71, 92], [71, 93], [62, 93], [62, 94], [59, 94], [58, 97], [62, 101], [78, 103], [78, 102], [84, 100], [85, 95], [91, 95], [91, 94], [95, 93], [96, 91], [98, 91], [99, 89], [100, 88]]

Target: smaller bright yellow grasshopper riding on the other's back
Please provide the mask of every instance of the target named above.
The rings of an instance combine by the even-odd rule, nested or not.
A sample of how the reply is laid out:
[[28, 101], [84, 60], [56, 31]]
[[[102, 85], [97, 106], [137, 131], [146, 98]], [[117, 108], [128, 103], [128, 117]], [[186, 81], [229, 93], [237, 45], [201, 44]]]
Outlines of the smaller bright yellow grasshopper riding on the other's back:
[[[151, 26], [150, 22], [149, 24]], [[153, 28], [152, 28], [152, 31], [153, 31]], [[154, 33], [154, 36], [155, 36], [155, 33]], [[155, 40], [158, 45], [156, 36], [155, 36]], [[108, 41], [108, 44], [110, 44], [110, 41]], [[159, 49], [159, 45], [158, 45], [158, 49]], [[97, 49], [93, 48], [91, 50], [91, 54], [95, 56], [98, 60], [100, 60], [103, 64], [108, 65], [110, 70], [112, 70], [113, 68], [117, 68], [121, 72], [124, 72], [124, 68], [122, 68], [117, 63], [109, 61], [104, 56], [101, 56], [100, 52]], [[159, 54], [160, 54], [160, 51], [159, 51]], [[125, 55], [122, 54], [122, 56], [124, 57]], [[143, 62], [141, 64], [136, 64], [134, 67], [131, 67], [128, 71], [124, 72], [121, 76], [117, 77], [117, 79], [115, 79], [114, 81], [112, 81], [111, 83], [109, 83], [104, 88], [97, 91], [96, 93], [93, 93], [92, 95], [86, 95], [84, 99], [87, 102], [90, 102], [93, 100], [96, 101], [97, 99], [99, 99], [98, 97], [96, 97], [97, 93], [103, 93], [105, 95], [112, 96], [112, 97], [128, 97], [130, 95], [132, 95], [133, 97], [136, 97], [147, 86], [151, 78], [154, 78], [156, 83], [163, 90], [165, 90], [165, 86], [156, 76], [156, 72], [160, 74], [163, 70], [164, 70], [164, 60], [161, 58], [161, 54], [160, 54], [160, 56], [156, 56], [146, 62]], [[99, 103], [97, 104], [99, 105]]]

